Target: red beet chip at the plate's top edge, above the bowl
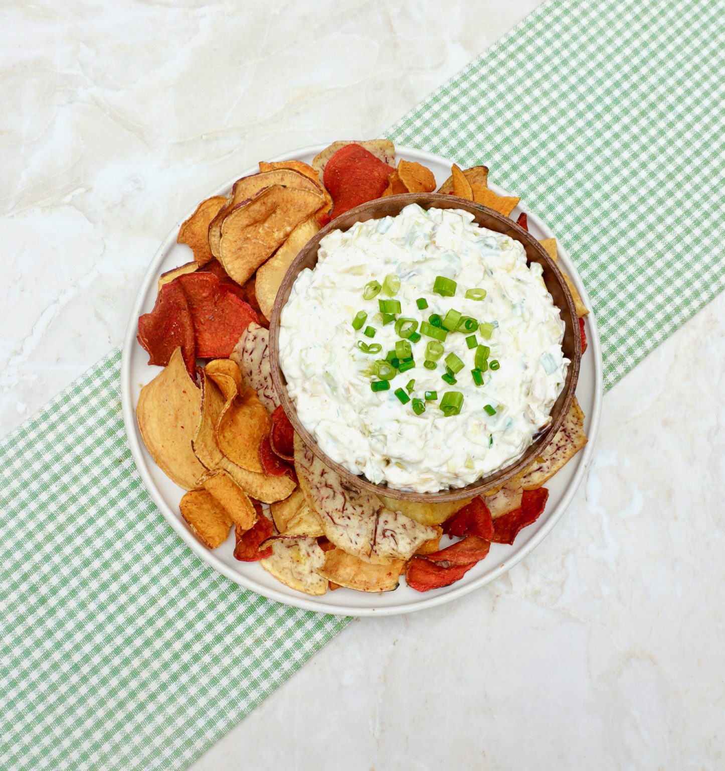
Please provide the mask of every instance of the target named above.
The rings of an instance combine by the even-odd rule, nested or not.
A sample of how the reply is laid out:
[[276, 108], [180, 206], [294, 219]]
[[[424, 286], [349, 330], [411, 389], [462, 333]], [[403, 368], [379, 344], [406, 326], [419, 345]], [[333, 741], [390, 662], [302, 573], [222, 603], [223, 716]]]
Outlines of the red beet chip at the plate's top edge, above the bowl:
[[324, 167], [324, 186], [334, 202], [331, 217], [339, 217], [353, 207], [379, 198], [388, 187], [388, 174], [394, 168], [383, 163], [364, 147], [344, 145]]

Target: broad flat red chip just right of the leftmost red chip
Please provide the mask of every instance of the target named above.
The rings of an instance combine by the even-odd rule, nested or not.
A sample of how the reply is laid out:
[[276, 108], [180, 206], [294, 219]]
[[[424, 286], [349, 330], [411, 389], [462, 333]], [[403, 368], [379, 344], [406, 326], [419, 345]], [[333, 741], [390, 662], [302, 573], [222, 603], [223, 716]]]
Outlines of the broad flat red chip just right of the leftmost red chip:
[[197, 271], [172, 283], [176, 281], [189, 301], [197, 357], [227, 359], [250, 322], [257, 322], [257, 314], [213, 273]]

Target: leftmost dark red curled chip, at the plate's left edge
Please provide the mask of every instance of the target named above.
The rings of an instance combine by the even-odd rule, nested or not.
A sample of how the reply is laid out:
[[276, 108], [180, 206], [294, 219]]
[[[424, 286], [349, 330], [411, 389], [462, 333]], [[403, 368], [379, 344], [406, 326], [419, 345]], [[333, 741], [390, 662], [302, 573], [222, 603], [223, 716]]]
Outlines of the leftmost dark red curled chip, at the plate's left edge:
[[164, 284], [153, 311], [139, 316], [139, 343], [149, 352], [149, 364], [165, 367], [176, 348], [181, 348], [186, 369], [194, 378], [196, 345], [189, 302], [181, 284]]

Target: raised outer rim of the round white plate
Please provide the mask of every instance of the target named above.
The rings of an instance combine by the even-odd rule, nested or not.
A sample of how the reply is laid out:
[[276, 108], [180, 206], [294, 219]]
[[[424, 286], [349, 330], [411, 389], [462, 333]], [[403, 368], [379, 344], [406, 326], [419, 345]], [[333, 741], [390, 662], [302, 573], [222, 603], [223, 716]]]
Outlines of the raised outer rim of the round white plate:
[[[279, 155], [270, 159], [270, 162], [295, 160], [301, 156], [309, 156], [310, 154], [316, 155], [317, 153], [321, 152], [321, 150], [324, 150], [324, 148], [328, 145], [329, 143], [321, 143], [300, 147], [287, 153], [280, 153]], [[424, 163], [424, 165], [426, 162], [432, 162], [436, 164], [451, 163], [451, 160], [448, 158], [442, 157], [435, 153], [428, 153], [425, 150], [417, 150], [414, 147], [396, 145], [395, 150], [396, 154], [399, 153], [406, 159], [417, 160], [419, 163]], [[240, 177], [244, 177], [253, 173], [257, 173], [257, 164], [243, 170], [242, 173], [235, 174], [233, 177], [231, 177], [230, 180], [227, 180], [227, 182], [220, 185], [220, 187], [217, 187], [216, 190], [210, 193], [208, 197], [227, 194], [227, 191], [230, 190], [230, 187], [236, 180], [238, 180]], [[505, 190], [502, 190], [501, 187], [498, 187], [494, 183], [490, 183], [489, 187], [498, 194], [506, 194]], [[529, 220], [532, 221], [536, 227], [539, 227], [539, 229], [545, 234], [545, 237], [555, 237], [549, 227], [547, 227], [536, 214], [532, 214], [528, 207], [523, 208], [525, 208]], [[196, 557], [198, 557], [205, 564], [212, 567], [213, 570], [215, 570], [217, 573], [220, 573], [223, 576], [229, 578], [230, 581], [233, 581], [235, 584], [240, 585], [242, 588], [248, 591], [254, 591], [257, 594], [261, 594], [267, 599], [281, 602], [294, 608], [301, 608], [307, 611], [351, 617], [383, 615], [391, 616], [404, 613], [412, 613], [414, 611], [421, 611], [425, 610], [425, 608], [434, 608], [438, 605], [445, 604], [447, 602], [451, 602], [455, 599], [463, 597], [465, 594], [482, 588], [486, 584], [490, 584], [492, 581], [495, 581], [496, 578], [501, 577], [503, 574], [511, 570], [512, 567], [522, 561], [525, 557], [528, 557], [528, 555], [531, 554], [531, 552], [537, 546], [539, 546], [542, 540], [544, 540], [545, 537], [549, 535], [555, 524], [561, 519], [563, 513], [569, 508], [569, 504], [572, 502], [572, 498], [576, 494], [576, 491], [579, 490], [579, 485], [582, 483], [582, 479], [586, 473], [586, 470], [589, 468], [589, 461], [591, 460], [594, 446], [596, 444], [596, 436], [599, 431], [599, 419], [602, 412], [603, 365], [602, 349], [599, 342], [599, 330], [596, 325], [596, 319], [594, 318], [593, 311], [590, 311], [587, 317], [587, 348], [589, 349], [592, 359], [594, 360], [594, 399], [592, 412], [589, 416], [589, 436], [587, 436], [588, 441], [586, 446], [584, 446], [581, 451], [582, 455], [579, 457], [579, 467], [574, 473], [574, 476], [569, 482], [569, 485], [566, 487], [566, 490], [564, 491], [561, 500], [559, 500], [558, 505], [555, 507], [552, 513], [549, 514], [549, 517], [547, 517], [545, 524], [536, 532], [533, 537], [529, 538], [525, 544], [523, 544], [518, 549], [513, 550], [511, 554], [507, 555], [494, 571], [478, 577], [475, 579], [475, 581], [471, 581], [468, 584], [458, 586], [458, 588], [452, 589], [445, 594], [437, 594], [435, 596], [425, 597], [414, 603], [407, 602], [403, 604], [384, 606], [381, 608], [357, 608], [354, 605], [321, 607], [319, 601], [316, 601], [313, 598], [307, 598], [307, 596], [304, 594], [300, 593], [299, 598], [290, 597], [289, 595], [284, 594], [282, 591], [277, 591], [275, 589], [263, 586], [262, 584], [258, 584], [257, 581], [254, 581], [253, 579], [250, 579], [249, 577], [244, 576], [237, 571], [233, 571], [232, 568], [227, 566], [227, 564], [224, 564], [218, 557], [216, 557], [213, 554], [213, 551], [206, 549], [203, 544], [200, 544], [200, 542], [196, 540], [190, 530], [188, 530], [183, 524], [183, 520], [181, 520], [181, 518], [176, 513], [174, 513], [173, 510], [171, 510], [171, 508], [167, 505], [166, 500], [163, 499], [163, 496], [159, 490], [156, 489], [156, 485], [153, 483], [153, 479], [151, 478], [149, 470], [146, 467], [146, 459], [143, 457], [143, 449], [139, 442], [136, 426], [136, 415], [133, 409], [133, 394], [131, 385], [131, 359], [134, 346], [136, 345], [136, 332], [139, 312], [149, 290], [149, 284], [157, 280], [159, 274], [159, 264], [165, 258], [166, 251], [168, 251], [170, 247], [173, 247], [173, 245], [176, 244], [176, 235], [178, 234], [180, 224], [188, 219], [188, 217], [190, 217], [195, 210], [196, 206], [190, 209], [182, 219], [176, 221], [170, 231], [166, 234], [166, 237], [163, 238], [161, 244], [159, 244], [159, 247], [156, 249], [156, 253], [153, 255], [153, 258], [149, 263], [149, 268], [146, 270], [146, 273], [143, 274], [138, 291], [136, 292], [136, 298], [133, 301], [133, 307], [131, 308], [129, 323], [126, 327], [126, 335], [123, 339], [120, 378], [123, 424], [126, 430], [126, 438], [129, 442], [129, 448], [131, 450], [133, 462], [136, 465], [136, 470], [138, 471], [139, 476], [143, 481], [144, 487], [146, 487], [146, 490], [149, 493], [151, 499], [154, 503], [156, 503], [156, 507], [158, 507], [159, 511], [163, 514], [163, 517], [170, 524], [176, 534], [180, 536], [181, 540], [183, 540], [184, 543], [190, 547], [193, 554], [195, 554]], [[557, 247], [559, 248], [559, 258], [565, 264], [569, 277], [572, 278], [576, 288], [579, 290], [579, 294], [582, 296], [582, 301], [587, 308], [592, 308], [592, 304], [589, 300], [589, 295], [586, 292], [586, 288], [584, 288], [581, 278], [579, 278], [579, 273], [576, 271], [576, 268], [572, 262], [569, 261], [566, 250], [561, 246], [561, 244], [559, 244], [558, 240]], [[371, 594], [371, 597], [377, 596], [378, 594]]]

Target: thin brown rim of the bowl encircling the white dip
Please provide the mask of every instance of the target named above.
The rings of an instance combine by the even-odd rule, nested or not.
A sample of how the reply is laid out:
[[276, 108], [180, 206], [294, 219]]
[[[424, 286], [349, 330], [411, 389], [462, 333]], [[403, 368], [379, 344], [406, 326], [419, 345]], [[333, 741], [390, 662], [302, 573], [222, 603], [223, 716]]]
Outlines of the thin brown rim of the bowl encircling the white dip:
[[[555, 305], [557, 308], [559, 308], [559, 311], [562, 315], [564, 315], [565, 311], [568, 312], [569, 318], [572, 321], [572, 332], [574, 335], [574, 354], [572, 355], [572, 359], [569, 364], [570, 374], [569, 372], [567, 373], [564, 389], [562, 389], [562, 393], [565, 393], [565, 396], [559, 405], [559, 411], [556, 413], [552, 419], [552, 423], [549, 424], [545, 431], [543, 431], [535, 439], [535, 441], [529, 445], [522, 456], [519, 457], [519, 459], [514, 463], [509, 463], [509, 465], [502, 466], [497, 470], [487, 474], [486, 476], [479, 477], [478, 480], [466, 485], [465, 487], [452, 487], [431, 493], [418, 493], [413, 490], [398, 490], [394, 487], [388, 487], [388, 485], [373, 483], [366, 479], [364, 476], [352, 473], [350, 470], [342, 466], [341, 463], [337, 463], [329, 456], [327, 456], [327, 454], [324, 453], [321, 447], [317, 444], [314, 436], [312, 436], [310, 431], [303, 425], [297, 416], [297, 409], [295, 408], [294, 402], [287, 392], [287, 381], [284, 379], [284, 373], [282, 372], [279, 356], [280, 314], [282, 308], [287, 302], [292, 284], [294, 284], [294, 281], [297, 278], [297, 274], [300, 272], [300, 265], [307, 261], [310, 253], [313, 251], [316, 258], [317, 249], [319, 248], [321, 240], [327, 236], [327, 234], [341, 227], [341, 222], [346, 223], [344, 225], [344, 230], [347, 231], [350, 227], [353, 227], [354, 224], [360, 221], [356, 219], [356, 217], [364, 217], [366, 220], [374, 218], [367, 217], [365, 215], [375, 213], [376, 211], [380, 210], [381, 207], [390, 207], [391, 203], [399, 205], [399, 214], [399, 211], [403, 207], [408, 206], [409, 204], [418, 204], [420, 206], [421, 201], [423, 201], [425, 204], [428, 204], [427, 207], [424, 206], [423, 208], [436, 208], [435, 203], [438, 201], [448, 204], [445, 208], [452, 208], [450, 206], [451, 201], [455, 201], [456, 204], [459, 204], [455, 208], [460, 208], [462, 210], [468, 211], [471, 214], [485, 214], [487, 217], [492, 218], [498, 225], [500, 225], [502, 228], [505, 228], [507, 231], [514, 231], [516, 236], [519, 237], [519, 240], [522, 241], [525, 245], [532, 247], [532, 249], [538, 254], [539, 259], [547, 264], [555, 278], [555, 281], [557, 281], [559, 284], [559, 288], [562, 291], [562, 296], [566, 301], [566, 308], [562, 308], [561, 305], [557, 305], [556, 303]], [[529, 261], [528, 258], [527, 261]], [[566, 318], [564, 320], [566, 322]], [[297, 254], [297, 257], [294, 258], [294, 261], [292, 261], [290, 267], [287, 268], [287, 272], [285, 273], [284, 278], [280, 284], [280, 288], [277, 291], [277, 297], [274, 300], [274, 306], [272, 308], [269, 322], [269, 350], [272, 381], [274, 382], [274, 389], [279, 396], [282, 409], [287, 415], [287, 418], [290, 420], [290, 423], [292, 424], [295, 432], [300, 435], [303, 442], [310, 447], [312, 452], [319, 460], [322, 461], [322, 463], [329, 466], [332, 470], [338, 473], [347, 483], [351, 484], [353, 487], [357, 487], [358, 489], [365, 490], [368, 493], [383, 495], [395, 500], [409, 500], [417, 503], [445, 503], [449, 501], [468, 500], [470, 498], [481, 495], [482, 493], [489, 491], [495, 492], [495, 490], [498, 488], [503, 487], [506, 482], [512, 479], [512, 477], [521, 473], [523, 470], [525, 470], [525, 468], [531, 466], [535, 460], [535, 457], [539, 456], [545, 450], [545, 448], [549, 446], [549, 443], [552, 442], [552, 439], [559, 431], [564, 419], [566, 418], [566, 413], [569, 412], [569, 407], [572, 405], [572, 401], [575, 397], [576, 383], [579, 379], [579, 366], [581, 364], [582, 358], [581, 332], [578, 318], [576, 316], [576, 308], [572, 298], [572, 293], [569, 290], [569, 286], [566, 283], [566, 280], [564, 279], [559, 266], [554, 260], [552, 260], [548, 252], [544, 249], [544, 247], [542, 247], [542, 244], [540, 244], [539, 241], [529, 233], [529, 231], [526, 231], [523, 227], [521, 227], [515, 221], [511, 220], [509, 217], [505, 217], [505, 215], [500, 214], [498, 211], [482, 206], [482, 204], [476, 204], [468, 199], [459, 198], [448, 194], [405, 193], [384, 198], [376, 198], [374, 200], [367, 201], [364, 204], [360, 204], [359, 206], [354, 207], [347, 212], [344, 212], [344, 214], [341, 214], [340, 217], [337, 217], [325, 225], [321, 231], [315, 234], [314, 237], [310, 238], [310, 241], [307, 241], [307, 244], [304, 245], [299, 254]], [[561, 394], [559, 395], [558, 399], [560, 396]]]

